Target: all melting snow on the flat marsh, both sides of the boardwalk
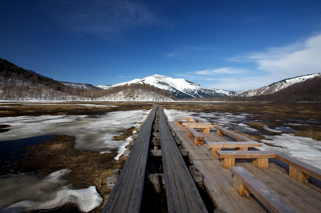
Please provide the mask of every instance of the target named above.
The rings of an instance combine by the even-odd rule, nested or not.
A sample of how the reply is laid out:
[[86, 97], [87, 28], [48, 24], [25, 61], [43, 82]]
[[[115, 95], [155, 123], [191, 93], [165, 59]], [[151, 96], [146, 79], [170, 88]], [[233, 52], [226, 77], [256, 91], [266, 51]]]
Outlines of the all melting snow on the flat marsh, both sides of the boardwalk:
[[[85, 105], [89, 106], [89, 104], [94, 103]], [[230, 129], [253, 133], [259, 132], [246, 124], [249, 118], [251, 118], [251, 122], [260, 122], [255, 120], [257, 116], [255, 114], [240, 113], [233, 115], [230, 113], [202, 113], [167, 109], [164, 109], [164, 111], [170, 121], [174, 121], [174, 117], [179, 116], [198, 116], [209, 122], [218, 122]], [[9, 131], [1, 133], [1, 141], [50, 134], [67, 134], [76, 137], [75, 148], [99, 150], [100, 152], [117, 149], [119, 154], [116, 158], [119, 158], [131, 138], [127, 138], [124, 141], [114, 141], [113, 137], [120, 135], [121, 131], [130, 127], [139, 127], [139, 123], [147, 117], [148, 113], [149, 110], [135, 110], [109, 112], [98, 116], [42, 115], [5, 117], [0, 118], [0, 124], [7, 124], [11, 127], [7, 128], [10, 129]], [[307, 121], [302, 122], [307, 123]], [[299, 123], [300, 121], [294, 123], [288, 120], [283, 123], [284, 126], [271, 129], [267, 123], [264, 128], [271, 132], [289, 132], [295, 129], [295, 125], [299, 125]], [[321, 122], [317, 120], [311, 120], [310, 123], [314, 126], [321, 125]], [[321, 162], [315, 161], [315, 159], [321, 158], [321, 141], [297, 137], [292, 134], [266, 135], [265, 137], [266, 139], [261, 140], [261, 142], [281, 147], [262, 144], [260, 149], [277, 150], [321, 168]], [[82, 211], [89, 211], [100, 206], [102, 198], [94, 186], [82, 190], [73, 190], [70, 186], [66, 185], [64, 175], [68, 172], [69, 170], [59, 170], [42, 178], [34, 175], [0, 178], [0, 194], [8, 194], [8, 191], [18, 194], [14, 198], [8, 196], [5, 199], [1, 199], [0, 212], [21, 212], [35, 208], [54, 208], [66, 202], [75, 203]], [[20, 196], [24, 194], [27, 195], [28, 199]], [[10, 206], [5, 204], [6, 202], [8, 203], [8, 199], [14, 200], [10, 202], [13, 203]]]

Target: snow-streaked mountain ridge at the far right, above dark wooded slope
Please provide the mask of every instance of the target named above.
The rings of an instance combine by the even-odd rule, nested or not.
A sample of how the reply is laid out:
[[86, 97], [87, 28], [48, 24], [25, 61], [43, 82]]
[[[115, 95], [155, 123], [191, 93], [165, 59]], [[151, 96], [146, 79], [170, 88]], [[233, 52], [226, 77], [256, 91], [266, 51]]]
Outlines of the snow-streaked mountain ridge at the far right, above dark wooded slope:
[[269, 94], [273, 94], [274, 92], [285, 89], [288, 86], [291, 86], [295, 83], [304, 82], [312, 78], [321, 78], [321, 73], [284, 79], [282, 81], [272, 83], [268, 86], [265, 86], [256, 90], [247, 90], [243, 92], [235, 91], [235, 92], [238, 93], [239, 96], [246, 96], [246, 97], [257, 96], [257, 95], [269, 95]]

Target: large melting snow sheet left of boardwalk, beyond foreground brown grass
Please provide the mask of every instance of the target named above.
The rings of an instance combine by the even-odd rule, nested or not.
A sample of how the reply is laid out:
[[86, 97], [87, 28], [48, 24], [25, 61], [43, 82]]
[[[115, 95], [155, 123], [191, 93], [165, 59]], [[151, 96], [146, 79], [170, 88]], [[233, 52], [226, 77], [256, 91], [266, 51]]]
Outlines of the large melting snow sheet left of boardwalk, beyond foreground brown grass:
[[100, 152], [118, 149], [124, 141], [113, 140], [121, 131], [138, 128], [150, 110], [109, 112], [99, 116], [41, 115], [0, 118], [0, 124], [10, 127], [1, 133], [1, 140], [14, 140], [42, 135], [70, 135], [76, 137], [75, 148]]

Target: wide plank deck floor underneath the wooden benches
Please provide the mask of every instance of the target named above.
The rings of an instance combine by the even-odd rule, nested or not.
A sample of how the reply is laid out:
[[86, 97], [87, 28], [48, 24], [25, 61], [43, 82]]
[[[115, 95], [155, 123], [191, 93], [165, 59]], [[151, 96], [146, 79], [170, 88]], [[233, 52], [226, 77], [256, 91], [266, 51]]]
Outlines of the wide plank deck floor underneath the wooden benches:
[[[188, 158], [197, 170], [203, 173], [203, 184], [216, 208], [226, 212], [268, 212], [269, 210], [254, 196], [241, 196], [234, 189], [234, 179], [230, 168], [221, 166], [217, 157], [211, 155], [206, 142], [228, 142], [230, 139], [218, 136], [216, 130], [204, 135], [204, 146], [196, 146], [194, 139], [188, 138], [187, 130], [169, 122], [182, 145], [188, 150]], [[233, 150], [233, 149], [229, 149]], [[268, 168], [253, 166], [251, 160], [236, 160], [235, 166], [242, 166], [256, 178], [278, 193], [299, 212], [320, 212], [321, 187], [316, 182], [300, 183], [289, 177], [289, 166], [277, 159], [269, 159]]]

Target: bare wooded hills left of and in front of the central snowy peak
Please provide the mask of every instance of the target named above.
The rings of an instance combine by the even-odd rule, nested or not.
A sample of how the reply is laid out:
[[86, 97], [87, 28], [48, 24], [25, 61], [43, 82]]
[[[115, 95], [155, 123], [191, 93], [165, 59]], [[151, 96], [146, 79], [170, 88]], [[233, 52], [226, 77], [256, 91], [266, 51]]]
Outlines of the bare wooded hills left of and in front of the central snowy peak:
[[[66, 86], [66, 85], [72, 85]], [[168, 91], [161, 90], [149, 84], [131, 84], [112, 87], [106, 90], [94, 87], [91, 84], [58, 82], [52, 78], [40, 75], [32, 70], [18, 67], [15, 64], [0, 58], [0, 99], [47, 99], [47, 100], [85, 100], [97, 99], [120, 91], [128, 94], [135, 89], [155, 92], [156, 96], [165, 96], [175, 99]], [[147, 94], [147, 93], [144, 93]], [[155, 96], [154, 94], [154, 96]]]

